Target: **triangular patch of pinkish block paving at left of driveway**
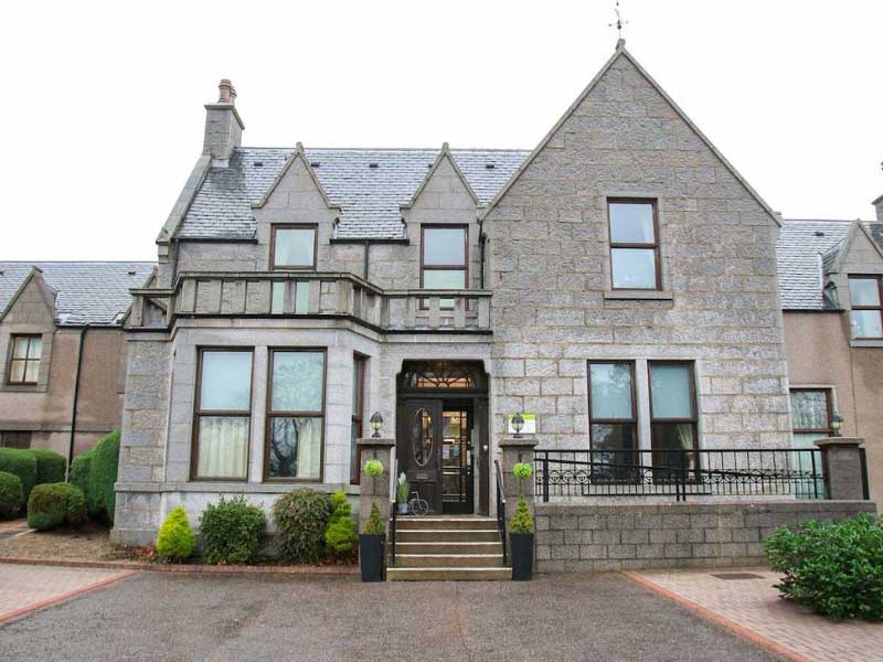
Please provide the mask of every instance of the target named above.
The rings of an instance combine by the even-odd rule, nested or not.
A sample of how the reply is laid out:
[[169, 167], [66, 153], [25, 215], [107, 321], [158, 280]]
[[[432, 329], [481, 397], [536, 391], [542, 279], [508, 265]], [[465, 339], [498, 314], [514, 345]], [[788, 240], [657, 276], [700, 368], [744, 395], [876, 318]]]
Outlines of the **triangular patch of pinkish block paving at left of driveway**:
[[0, 564], [0, 623], [132, 573]]

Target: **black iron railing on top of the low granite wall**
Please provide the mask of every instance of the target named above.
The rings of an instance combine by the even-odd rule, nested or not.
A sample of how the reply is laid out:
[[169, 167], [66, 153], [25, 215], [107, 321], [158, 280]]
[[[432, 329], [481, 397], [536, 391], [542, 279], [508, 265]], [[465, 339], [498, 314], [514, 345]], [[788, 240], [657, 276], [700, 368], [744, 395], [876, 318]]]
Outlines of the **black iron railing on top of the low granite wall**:
[[544, 450], [535, 494], [552, 496], [766, 496], [827, 499], [821, 450]]

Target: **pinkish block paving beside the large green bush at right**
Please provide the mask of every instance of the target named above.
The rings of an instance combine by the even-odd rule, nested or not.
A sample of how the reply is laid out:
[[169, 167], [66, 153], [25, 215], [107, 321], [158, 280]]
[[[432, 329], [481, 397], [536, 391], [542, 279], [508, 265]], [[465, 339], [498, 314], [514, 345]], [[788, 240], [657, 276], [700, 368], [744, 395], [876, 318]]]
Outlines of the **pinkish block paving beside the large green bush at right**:
[[[714, 574], [735, 572], [759, 579], [720, 579]], [[883, 624], [836, 622], [779, 598], [773, 588], [779, 575], [766, 569], [652, 570], [634, 573], [645, 581], [706, 609], [715, 619], [745, 628], [783, 647], [792, 660], [812, 662], [868, 662], [883, 660]]]

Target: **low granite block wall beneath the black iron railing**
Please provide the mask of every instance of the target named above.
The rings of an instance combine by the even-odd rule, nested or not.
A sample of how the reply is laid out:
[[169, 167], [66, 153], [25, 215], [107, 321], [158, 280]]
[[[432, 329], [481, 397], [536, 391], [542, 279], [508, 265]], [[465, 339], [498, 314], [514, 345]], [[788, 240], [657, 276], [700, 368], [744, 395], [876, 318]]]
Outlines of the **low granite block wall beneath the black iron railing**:
[[876, 513], [870, 501], [536, 503], [536, 569], [759, 565], [777, 526]]

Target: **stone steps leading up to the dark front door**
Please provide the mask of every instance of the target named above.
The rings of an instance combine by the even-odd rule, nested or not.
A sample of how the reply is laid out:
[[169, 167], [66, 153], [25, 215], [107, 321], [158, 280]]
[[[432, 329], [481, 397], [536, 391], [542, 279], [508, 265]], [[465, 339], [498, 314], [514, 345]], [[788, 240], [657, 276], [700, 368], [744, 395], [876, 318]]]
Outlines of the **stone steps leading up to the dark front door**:
[[511, 579], [497, 520], [468, 515], [396, 520], [395, 565], [389, 581]]

